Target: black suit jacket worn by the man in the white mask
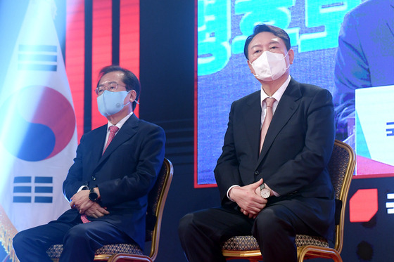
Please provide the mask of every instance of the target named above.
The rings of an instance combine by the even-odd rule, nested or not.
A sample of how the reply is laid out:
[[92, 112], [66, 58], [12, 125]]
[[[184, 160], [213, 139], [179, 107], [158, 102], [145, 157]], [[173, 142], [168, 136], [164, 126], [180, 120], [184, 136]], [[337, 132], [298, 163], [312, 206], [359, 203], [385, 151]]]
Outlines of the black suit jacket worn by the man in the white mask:
[[291, 79], [267, 131], [259, 156], [260, 91], [231, 105], [215, 178], [222, 204], [231, 185], [264, 179], [283, 204], [320, 235], [333, 240], [334, 195], [326, 165], [334, 140], [332, 96], [326, 89]]

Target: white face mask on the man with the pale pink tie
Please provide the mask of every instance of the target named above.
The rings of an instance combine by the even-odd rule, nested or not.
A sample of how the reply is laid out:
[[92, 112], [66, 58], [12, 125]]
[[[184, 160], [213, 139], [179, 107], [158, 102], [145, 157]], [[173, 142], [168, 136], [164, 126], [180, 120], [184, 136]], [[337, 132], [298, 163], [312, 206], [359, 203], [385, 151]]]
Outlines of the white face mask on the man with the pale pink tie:
[[[288, 52], [286, 53], [286, 55]], [[286, 55], [282, 53], [263, 52], [252, 65], [255, 70], [254, 76], [262, 81], [274, 81], [281, 77], [288, 67], [286, 67]], [[289, 65], [290, 66], [290, 65]]]

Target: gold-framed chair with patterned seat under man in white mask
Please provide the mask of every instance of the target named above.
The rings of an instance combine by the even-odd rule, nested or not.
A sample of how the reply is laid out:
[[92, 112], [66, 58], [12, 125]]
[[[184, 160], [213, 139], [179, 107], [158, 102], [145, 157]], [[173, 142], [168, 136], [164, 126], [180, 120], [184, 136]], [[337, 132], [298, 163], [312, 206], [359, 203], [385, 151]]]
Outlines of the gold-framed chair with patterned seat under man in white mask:
[[[328, 166], [336, 198], [335, 244], [331, 248], [324, 237], [296, 235], [298, 262], [309, 258], [331, 258], [333, 261], [342, 262], [340, 254], [343, 247], [345, 204], [355, 164], [355, 152], [350, 145], [335, 140]], [[227, 260], [246, 259], [250, 262], [263, 260], [258, 242], [251, 235], [231, 237], [224, 242], [222, 254]]]

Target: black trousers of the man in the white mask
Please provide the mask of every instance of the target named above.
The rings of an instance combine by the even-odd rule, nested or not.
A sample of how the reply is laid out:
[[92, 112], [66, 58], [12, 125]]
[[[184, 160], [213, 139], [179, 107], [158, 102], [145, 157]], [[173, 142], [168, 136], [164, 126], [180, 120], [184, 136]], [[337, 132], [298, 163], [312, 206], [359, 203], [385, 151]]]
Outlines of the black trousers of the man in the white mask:
[[280, 204], [265, 207], [255, 219], [224, 207], [197, 211], [181, 219], [178, 232], [189, 262], [226, 261], [222, 244], [235, 235], [253, 235], [265, 262], [293, 262], [295, 234], [316, 234]]

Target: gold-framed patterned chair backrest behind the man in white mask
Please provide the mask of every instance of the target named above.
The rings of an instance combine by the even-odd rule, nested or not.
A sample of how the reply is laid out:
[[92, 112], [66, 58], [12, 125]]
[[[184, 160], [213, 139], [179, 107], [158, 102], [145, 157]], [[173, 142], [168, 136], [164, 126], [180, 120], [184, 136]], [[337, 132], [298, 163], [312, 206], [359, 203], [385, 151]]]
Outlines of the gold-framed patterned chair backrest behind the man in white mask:
[[348, 199], [350, 182], [355, 171], [355, 152], [350, 145], [335, 140], [329, 162], [329, 173], [336, 198], [335, 249], [341, 253], [343, 247], [343, 224], [345, 223], [345, 205]]

